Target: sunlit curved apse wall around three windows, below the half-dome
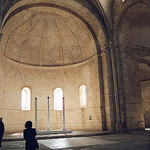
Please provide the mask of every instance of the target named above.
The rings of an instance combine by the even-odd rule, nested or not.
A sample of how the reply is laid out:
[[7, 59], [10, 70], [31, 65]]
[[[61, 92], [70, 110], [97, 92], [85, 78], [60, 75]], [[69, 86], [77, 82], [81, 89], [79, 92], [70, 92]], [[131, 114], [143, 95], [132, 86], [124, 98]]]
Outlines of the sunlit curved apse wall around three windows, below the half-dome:
[[[66, 128], [100, 130], [100, 98], [97, 57], [81, 64], [66, 67], [33, 67], [4, 58], [0, 62], [0, 115], [6, 132], [24, 129], [27, 120], [34, 123], [34, 99], [38, 99], [38, 129], [47, 128], [47, 96], [50, 96], [50, 127], [62, 128], [62, 112], [54, 111], [54, 89], [63, 89], [66, 104]], [[81, 109], [79, 87], [87, 87], [88, 107]], [[31, 111], [21, 110], [21, 89], [31, 88]]]

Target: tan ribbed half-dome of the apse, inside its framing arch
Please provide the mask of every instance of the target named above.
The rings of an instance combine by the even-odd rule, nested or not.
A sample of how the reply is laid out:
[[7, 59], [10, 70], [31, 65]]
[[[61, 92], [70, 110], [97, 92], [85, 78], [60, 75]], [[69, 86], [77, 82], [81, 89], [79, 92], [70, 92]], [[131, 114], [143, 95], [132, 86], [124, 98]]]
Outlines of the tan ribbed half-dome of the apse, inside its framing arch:
[[4, 56], [28, 65], [70, 65], [97, 53], [86, 25], [73, 14], [53, 7], [20, 11], [7, 21], [3, 35]]

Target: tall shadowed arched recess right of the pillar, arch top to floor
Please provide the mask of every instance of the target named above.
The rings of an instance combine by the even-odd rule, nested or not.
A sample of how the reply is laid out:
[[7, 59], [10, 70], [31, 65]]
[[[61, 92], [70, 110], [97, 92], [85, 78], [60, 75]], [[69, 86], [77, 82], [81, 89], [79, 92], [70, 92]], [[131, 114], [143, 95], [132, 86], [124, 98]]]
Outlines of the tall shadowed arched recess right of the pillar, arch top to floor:
[[[128, 112], [125, 110], [127, 129], [133, 129], [136, 123], [135, 128], [144, 127], [139, 61], [148, 54], [150, 48], [148, 42], [150, 36], [147, 34], [150, 32], [149, 14], [150, 10], [145, 3], [132, 3], [121, 14], [122, 18], [115, 28], [115, 46], [118, 49], [118, 53], [120, 53], [122, 78], [126, 79], [123, 81], [125, 107], [126, 109], [127, 107], [133, 107], [132, 102], [134, 102], [136, 107], [133, 107], [133, 111], [140, 116], [133, 116], [129, 114], [129, 110], [127, 110]], [[138, 118], [138, 121], [133, 122], [132, 117]]]

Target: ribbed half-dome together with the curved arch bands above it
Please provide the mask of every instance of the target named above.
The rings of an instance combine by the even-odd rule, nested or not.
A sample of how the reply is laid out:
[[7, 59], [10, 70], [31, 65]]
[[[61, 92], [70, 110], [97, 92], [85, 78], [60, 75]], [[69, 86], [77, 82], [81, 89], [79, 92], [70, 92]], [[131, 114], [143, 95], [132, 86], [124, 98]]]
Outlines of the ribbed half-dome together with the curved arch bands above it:
[[19, 63], [40, 66], [90, 59], [105, 39], [104, 17], [93, 2], [4, 1], [2, 54]]

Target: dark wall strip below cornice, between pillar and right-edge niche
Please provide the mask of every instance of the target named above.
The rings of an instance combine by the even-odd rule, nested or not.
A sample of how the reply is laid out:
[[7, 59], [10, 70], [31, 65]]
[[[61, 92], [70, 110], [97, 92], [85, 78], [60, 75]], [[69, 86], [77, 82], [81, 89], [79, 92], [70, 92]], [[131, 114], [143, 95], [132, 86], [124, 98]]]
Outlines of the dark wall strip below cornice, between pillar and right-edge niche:
[[132, 49], [122, 48], [123, 86], [125, 89], [127, 129], [144, 128], [139, 63]]

